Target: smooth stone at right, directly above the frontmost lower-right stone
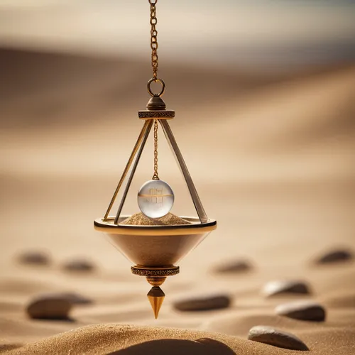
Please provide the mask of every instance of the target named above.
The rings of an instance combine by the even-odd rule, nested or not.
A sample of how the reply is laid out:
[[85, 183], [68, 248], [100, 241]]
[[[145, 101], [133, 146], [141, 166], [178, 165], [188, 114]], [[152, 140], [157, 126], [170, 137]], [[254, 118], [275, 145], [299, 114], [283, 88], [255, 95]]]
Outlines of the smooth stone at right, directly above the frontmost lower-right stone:
[[295, 320], [310, 320], [313, 322], [324, 322], [326, 312], [324, 307], [313, 301], [296, 301], [278, 305], [275, 308], [278, 315], [294, 318]]

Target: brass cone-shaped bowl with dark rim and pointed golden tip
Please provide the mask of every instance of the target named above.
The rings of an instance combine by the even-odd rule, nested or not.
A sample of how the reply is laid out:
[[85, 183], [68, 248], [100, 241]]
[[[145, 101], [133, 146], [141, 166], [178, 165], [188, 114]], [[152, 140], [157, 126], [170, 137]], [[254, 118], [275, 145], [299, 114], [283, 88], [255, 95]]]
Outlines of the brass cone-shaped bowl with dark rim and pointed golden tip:
[[120, 216], [118, 224], [114, 224], [114, 217], [109, 217], [107, 221], [97, 219], [94, 222], [95, 229], [109, 236], [112, 244], [131, 263], [136, 263], [131, 266], [134, 275], [146, 278], [153, 286], [147, 296], [156, 319], [165, 297], [159, 286], [168, 276], [179, 273], [179, 267], [174, 264], [216, 229], [217, 222], [209, 219], [201, 223], [198, 217], [183, 217], [191, 223], [174, 226], [121, 224], [127, 217], [130, 216]]

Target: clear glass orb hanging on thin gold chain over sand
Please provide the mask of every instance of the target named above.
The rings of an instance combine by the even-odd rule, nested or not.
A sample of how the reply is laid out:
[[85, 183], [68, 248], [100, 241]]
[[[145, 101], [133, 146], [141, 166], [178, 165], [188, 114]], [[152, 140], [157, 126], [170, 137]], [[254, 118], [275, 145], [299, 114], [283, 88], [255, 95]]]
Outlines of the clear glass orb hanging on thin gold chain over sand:
[[138, 191], [138, 206], [147, 217], [163, 217], [173, 204], [174, 192], [165, 181], [149, 180]]

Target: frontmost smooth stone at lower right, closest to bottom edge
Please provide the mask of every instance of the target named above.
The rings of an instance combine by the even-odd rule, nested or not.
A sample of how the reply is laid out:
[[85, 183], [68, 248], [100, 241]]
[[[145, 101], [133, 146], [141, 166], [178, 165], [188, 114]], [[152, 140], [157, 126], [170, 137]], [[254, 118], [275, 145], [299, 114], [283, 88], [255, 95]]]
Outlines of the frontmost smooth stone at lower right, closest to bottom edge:
[[253, 342], [278, 346], [283, 349], [309, 350], [307, 345], [294, 334], [266, 325], [252, 327], [249, 330], [248, 339], [253, 340]]

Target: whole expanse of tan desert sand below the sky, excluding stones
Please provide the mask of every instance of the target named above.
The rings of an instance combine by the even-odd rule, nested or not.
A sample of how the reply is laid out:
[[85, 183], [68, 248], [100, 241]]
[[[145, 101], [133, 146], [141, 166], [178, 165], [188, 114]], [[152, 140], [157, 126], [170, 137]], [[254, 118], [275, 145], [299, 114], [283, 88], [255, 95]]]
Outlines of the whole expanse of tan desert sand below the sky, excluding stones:
[[[219, 67], [212, 78], [208, 67], [161, 69], [165, 102], [177, 113], [172, 129], [218, 229], [163, 285], [165, 301], [154, 320], [148, 283], [131, 275], [130, 263], [93, 229], [141, 129], [136, 111], [148, 101], [148, 65], [18, 50], [2, 50], [0, 58], [1, 351], [166, 354], [172, 348], [165, 341], [149, 349], [134, 345], [209, 337], [235, 354], [295, 354], [247, 340], [251, 327], [270, 325], [296, 334], [314, 354], [354, 354], [355, 264], [312, 263], [329, 249], [355, 249], [354, 67], [283, 77]], [[127, 214], [138, 212], [136, 191], [151, 178], [152, 161], [149, 141]], [[163, 139], [160, 177], [177, 196], [173, 212], [194, 214]], [[18, 254], [28, 250], [48, 251], [52, 263], [18, 263]], [[96, 270], [62, 270], [77, 257]], [[213, 273], [236, 258], [253, 269]], [[264, 297], [263, 285], [278, 279], [310, 283], [312, 295], [302, 299], [324, 305], [327, 320], [275, 315], [276, 305], [300, 298]], [[27, 317], [32, 297], [64, 291], [93, 302], [73, 307], [70, 321]], [[229, 308], [173, 307], [181, 297], [216, 291], [231, 295]], [[185, 353], [200, 351], [195, 343], [172, 344]]]

